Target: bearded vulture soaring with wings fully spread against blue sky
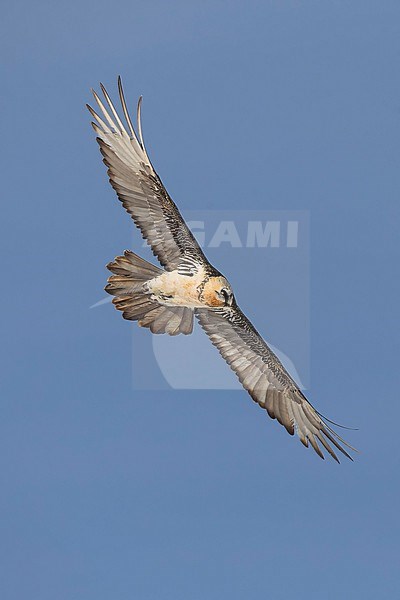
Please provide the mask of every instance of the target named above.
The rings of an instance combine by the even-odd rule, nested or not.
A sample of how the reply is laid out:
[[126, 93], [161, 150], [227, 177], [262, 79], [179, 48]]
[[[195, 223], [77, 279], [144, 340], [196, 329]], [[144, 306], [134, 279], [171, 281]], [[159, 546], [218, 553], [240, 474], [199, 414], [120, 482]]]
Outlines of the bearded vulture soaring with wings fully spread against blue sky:
[[205, 257], [177, 206], [157, 175], [146, 151], [137, 105], [135, 131], [125, 102], [121, 78], [119, 97], [123, 123], [106, 89], [104, 100], [93, 91], [99, 113], [94, 118], [110, 183], [162, 268], [126, 250], [107, 265], [113, 273], [106, 291], [124, 319], [137, 321], [152, 333], [188, 335], [194, 316], [212, 344], [236, 373], [251, 398], [304, 446], [324, 458], [320, 445], [337, 461], [336, 450], [348, 458], [347, 444], [308, 402], [254, 326], [240, 310], [228, 280]]

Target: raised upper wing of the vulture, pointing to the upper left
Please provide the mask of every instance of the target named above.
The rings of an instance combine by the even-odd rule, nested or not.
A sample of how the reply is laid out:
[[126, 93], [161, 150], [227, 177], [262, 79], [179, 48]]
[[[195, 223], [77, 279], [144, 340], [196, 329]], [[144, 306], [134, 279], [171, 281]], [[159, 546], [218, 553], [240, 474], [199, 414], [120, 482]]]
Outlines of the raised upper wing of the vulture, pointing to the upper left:
[[87, 105], [96, 121], [92, 125], [98, 136], [103, 162], [108, 167], [110, 183], [163, 267], [174, 270], [181, 258], [187, 255], [194, 258], [194, 262], [196, 259], [201, 262], [205, 259], [199, 245], [147, 155], [140, 117], [141, 98], [137, 107], [136, 134], [120, 78], [118, 88], [128, 131], [103, 85], [105, 103], [93, 91], [102, 117]]

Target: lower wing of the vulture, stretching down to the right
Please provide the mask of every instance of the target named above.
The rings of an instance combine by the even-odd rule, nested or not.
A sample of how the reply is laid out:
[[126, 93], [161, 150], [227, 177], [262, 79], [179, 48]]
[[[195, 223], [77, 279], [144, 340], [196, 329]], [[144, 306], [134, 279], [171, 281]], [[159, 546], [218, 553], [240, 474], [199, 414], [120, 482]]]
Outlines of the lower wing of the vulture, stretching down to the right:
[[196, 316], [245, 390], [272, 419], [291, 435], [296, 432], [305, 446], [310, 443], [321, 458], [317, 440], [337, 462], [332, 446], [351, 459], [339, 442], [354, 448], [324, 422], [238, 306], [196, 309]]

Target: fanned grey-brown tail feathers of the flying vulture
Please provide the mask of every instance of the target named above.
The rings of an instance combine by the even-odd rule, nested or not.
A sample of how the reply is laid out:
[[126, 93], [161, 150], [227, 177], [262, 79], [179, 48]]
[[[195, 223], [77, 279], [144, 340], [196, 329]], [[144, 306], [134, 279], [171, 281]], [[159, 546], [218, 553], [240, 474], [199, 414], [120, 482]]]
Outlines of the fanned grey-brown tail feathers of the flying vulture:
[[162, 269], [129, 250], [117, 256], [107, 268], [113, 275], [108, 278], [105, 290], [115, 296], [113, 304], [122, 311], [124, 319], [137, 321], [141, 327], [149, 327], [152, 333], [192, 333], [192, 309], [159, 304], [146, 290], [146, 282], [161, 275]]

